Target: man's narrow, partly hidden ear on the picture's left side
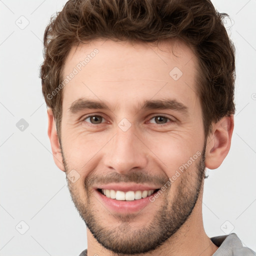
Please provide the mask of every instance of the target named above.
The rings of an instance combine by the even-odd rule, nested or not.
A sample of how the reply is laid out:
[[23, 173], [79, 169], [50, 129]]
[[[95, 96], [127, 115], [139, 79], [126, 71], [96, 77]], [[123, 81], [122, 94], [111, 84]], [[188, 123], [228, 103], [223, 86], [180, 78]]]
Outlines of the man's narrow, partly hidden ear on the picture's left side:
[[59, 169], [62, 171], [65, 171], [64, 165], [63, 165], [63, 159], [60, 149], [60, 144], [58, 141], [58, 135], [56, 130], [56, 124], [53, 117], [52, 109], [47, 108], [47, 115], [48, 115], [48, 137], [50, 139], [50, 145], [51, 145], [51, 151], [53, 155], [53, 159], [55, 164], [58, 166]]

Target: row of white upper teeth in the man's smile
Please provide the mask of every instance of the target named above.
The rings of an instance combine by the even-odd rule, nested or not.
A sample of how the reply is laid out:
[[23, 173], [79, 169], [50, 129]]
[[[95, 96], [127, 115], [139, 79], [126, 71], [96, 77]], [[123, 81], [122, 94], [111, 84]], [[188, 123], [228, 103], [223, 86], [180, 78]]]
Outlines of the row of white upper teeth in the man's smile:
[[146, 196], [151, 195], [154, 190], [150, 189], [150, 190], [137, 190], [137, 191], [127, 191], [127, 192], [123, 192], [123, 191], [115, 191], [113, 189], [101, 189], [102, 193], [108, 197], [108, 198], [112, 198], [112, 199], [116, 199], [116, 200], [134, 200], [134, 199], [141, 199], [141, 198], [145, 198]]

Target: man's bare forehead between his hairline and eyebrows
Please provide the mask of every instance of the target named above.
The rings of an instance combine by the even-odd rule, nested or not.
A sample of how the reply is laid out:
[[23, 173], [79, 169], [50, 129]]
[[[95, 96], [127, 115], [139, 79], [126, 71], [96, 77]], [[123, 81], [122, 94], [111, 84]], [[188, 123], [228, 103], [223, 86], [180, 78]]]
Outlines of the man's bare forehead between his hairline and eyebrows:
[[167, 94], [193, 104], [196, 67], [193, 51], [182, 41], [80, 43], [72, 46], [63, 67], [63, 110], [83, 96], [112, 102], [115, 107]]

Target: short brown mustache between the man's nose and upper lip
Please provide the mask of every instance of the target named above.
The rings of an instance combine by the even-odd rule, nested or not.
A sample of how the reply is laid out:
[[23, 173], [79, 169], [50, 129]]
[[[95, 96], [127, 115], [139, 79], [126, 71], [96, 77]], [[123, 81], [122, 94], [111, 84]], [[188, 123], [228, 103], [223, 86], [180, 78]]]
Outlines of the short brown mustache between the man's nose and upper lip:
[[120, 183], [120, 182], [134, 182], [134, 183], [146, 183], [149, 185], [163, 186], [169, 178], [165, 175], [151, 175], [142, 171], [133, 171], [126, 174], [120, 174], [118, 172], [111, 172], [106, 175], [97, 175], [95, 172], [88, 175], [84, 184], [86, 188], [94, 184], [108, 184], [108, 183]]

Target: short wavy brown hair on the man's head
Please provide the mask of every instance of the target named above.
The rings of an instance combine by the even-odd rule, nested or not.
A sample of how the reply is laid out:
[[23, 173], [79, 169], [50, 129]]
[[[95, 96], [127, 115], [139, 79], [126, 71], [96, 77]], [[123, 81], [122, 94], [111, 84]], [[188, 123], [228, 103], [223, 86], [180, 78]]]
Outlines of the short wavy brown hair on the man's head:
[[223, 25], [226, 13], [210, 0], [69, 0], [44, 32], [42, 93], [60, 139], [62, 69], [71, 46], [98, 38], [158, 42], [176, 38], [198, 58], [197, 93], [205, 137], [212, 122], [234, 113], [235, 48]]

